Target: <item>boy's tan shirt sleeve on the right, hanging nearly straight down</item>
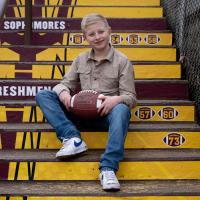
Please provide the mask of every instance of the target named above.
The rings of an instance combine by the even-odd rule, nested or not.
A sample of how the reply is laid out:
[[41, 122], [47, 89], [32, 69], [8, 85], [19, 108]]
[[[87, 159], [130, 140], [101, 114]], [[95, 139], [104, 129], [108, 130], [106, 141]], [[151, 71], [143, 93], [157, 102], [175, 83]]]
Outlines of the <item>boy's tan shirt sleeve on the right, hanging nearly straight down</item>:
[[128, 58], [121, 63], [119, 74], [119, 94], [122, 97], [123, 103], [128, 105], [130, 108], [136, 106], [137, 99], [134, 82], [134, 70]]

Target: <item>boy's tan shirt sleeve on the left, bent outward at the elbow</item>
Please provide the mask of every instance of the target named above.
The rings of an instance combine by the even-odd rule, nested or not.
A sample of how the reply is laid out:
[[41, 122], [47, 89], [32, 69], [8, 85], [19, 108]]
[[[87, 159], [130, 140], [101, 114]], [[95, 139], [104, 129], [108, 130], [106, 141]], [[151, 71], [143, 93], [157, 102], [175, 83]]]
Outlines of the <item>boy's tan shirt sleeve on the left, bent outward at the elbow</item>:
[[62, 81], [53, 88], [53, 91], [55, 91], [57, 95], [59, 95], [63, 90], [70, 93], [71, 91], [75, 91], [77, 88], [79, 84], [79, 74], [77, 73], [78, 62], [79, 59], [77, 57], [73, 61], [69, 72], [66, 73]]

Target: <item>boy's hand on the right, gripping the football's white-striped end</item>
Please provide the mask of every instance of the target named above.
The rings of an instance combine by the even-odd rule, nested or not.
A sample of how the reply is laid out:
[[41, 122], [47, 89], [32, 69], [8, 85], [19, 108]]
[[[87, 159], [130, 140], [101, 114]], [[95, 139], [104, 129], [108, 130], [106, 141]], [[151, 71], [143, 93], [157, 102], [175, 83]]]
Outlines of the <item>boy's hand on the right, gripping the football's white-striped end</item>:
[[98, 109], [98, 113], [100, 116], [107, 115], [114, 106], [116, 106], [118, 103], [122, 102], [122, 98], [120, 96], [104, 96], [100, 95], [98, 99], [102, 100], [102, 104]]

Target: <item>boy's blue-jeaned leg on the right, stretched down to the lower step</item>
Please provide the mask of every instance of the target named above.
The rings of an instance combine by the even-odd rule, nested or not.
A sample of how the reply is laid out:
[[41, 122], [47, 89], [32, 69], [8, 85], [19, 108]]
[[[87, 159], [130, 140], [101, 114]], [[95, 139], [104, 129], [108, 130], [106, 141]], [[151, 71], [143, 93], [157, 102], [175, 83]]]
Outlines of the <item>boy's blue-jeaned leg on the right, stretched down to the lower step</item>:
[[119, 162], [124, 156], [124, 143], [128, 131], [131, 113], [125, 104], [116, 105], [107, 116], [109, 135], [106, 150], [101, 156], [100, 170], [119, 169]]

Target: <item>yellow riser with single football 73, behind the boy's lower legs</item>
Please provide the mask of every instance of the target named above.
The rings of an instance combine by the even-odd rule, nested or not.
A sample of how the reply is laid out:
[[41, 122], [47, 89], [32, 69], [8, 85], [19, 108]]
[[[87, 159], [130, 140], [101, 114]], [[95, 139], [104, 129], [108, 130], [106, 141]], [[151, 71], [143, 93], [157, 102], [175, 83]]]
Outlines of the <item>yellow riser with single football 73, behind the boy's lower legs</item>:
[[[89, 149], [105, 149], [107, 132], [81, 132]], [[95, 141], [94, 141], [95, 137]], [[125, 148], [199, 148], [200, 132], [128, 132]], [[0, 149], [59, 149], [55, 132], [6, 132]]]

